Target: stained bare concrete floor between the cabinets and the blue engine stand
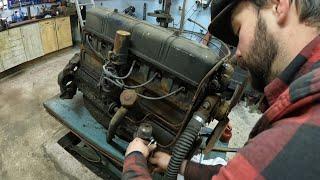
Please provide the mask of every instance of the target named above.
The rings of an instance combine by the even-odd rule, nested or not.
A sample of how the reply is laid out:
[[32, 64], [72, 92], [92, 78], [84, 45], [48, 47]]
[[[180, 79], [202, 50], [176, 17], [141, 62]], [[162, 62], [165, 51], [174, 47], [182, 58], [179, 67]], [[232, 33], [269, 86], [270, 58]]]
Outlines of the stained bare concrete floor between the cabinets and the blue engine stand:
[[0, 179], [99, 179], [56, 142], [67, 130], [42, 103], [78, 49], [43, 57], [0, 79]]

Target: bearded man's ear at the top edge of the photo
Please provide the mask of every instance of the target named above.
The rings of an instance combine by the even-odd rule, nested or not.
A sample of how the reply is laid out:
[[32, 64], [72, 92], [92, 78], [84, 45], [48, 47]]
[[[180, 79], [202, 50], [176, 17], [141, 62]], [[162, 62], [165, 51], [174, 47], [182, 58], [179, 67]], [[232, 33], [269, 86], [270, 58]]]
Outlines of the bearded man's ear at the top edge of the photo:
[[289, 15], [290, 0], [272, 0], [272, 11], [276, 16], [277, 23], [283, 25]]

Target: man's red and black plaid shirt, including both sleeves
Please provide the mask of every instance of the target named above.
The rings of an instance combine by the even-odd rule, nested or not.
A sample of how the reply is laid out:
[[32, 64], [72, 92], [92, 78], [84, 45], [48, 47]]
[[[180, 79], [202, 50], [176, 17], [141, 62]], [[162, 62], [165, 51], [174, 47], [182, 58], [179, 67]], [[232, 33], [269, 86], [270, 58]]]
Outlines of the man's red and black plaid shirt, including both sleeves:
[[[186, 179], [320, 179], [320, 36], [265, 88], [265, 95], [269, 108], [236, 156], [221, 168], [189, 162]], [[127, 156], [124, 177], [150, 178], [143, 159], [137, 153]]]

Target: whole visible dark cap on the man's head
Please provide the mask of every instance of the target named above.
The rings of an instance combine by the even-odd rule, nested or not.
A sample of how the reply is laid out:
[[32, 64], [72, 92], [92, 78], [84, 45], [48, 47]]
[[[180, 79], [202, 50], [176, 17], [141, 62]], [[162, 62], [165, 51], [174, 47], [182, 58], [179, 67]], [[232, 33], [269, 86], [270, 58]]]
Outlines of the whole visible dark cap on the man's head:
[[232, 30], [232, 10], [241, 0], [213, 0], [211, 4], [211, 23], [208, 27], [210, 34], [223, 42], [237, 46], [239, 38]]

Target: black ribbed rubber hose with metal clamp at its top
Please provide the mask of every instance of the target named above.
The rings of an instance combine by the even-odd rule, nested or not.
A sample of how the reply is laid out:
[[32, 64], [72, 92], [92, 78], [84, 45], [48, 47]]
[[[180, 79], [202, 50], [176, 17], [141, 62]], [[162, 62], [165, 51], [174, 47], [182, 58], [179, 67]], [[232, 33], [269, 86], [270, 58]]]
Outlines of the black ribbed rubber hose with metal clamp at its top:
[[[202, 120], [199, 120], [199, 118]], [[166, 179], [177, 179], [182, 161], [191, 150], [201, 127], [204, 125], [203, 122], [204, 118], [201, 118], [201, 116], [197, 113], [195, 113], [191, 118], [186, 129], [183, 131], [174, 147], [173, 154], [168, 165], [168, 170], [166, 172]]]

